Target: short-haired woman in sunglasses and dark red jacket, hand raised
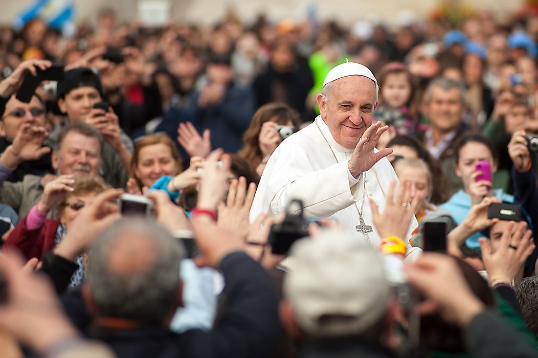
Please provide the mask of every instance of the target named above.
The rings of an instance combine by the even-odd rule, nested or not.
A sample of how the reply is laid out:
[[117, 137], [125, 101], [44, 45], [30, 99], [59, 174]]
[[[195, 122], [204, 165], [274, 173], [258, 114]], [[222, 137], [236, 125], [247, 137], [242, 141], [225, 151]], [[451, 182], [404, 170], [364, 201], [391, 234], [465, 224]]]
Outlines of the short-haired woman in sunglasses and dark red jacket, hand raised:
[[[63, 239], [80, 209], [108, 188], [102, 178], [86, 175], [76, 179], [72, 175], [60, 176], [49, 181], [39, 202], [11, 231], [5, 245], [17, 248], [27, 259], [43, 259]], [[58, 220], [46, 219], [51, 210], [55, 210]], [[76, 264], [79, 267], [71, 278], [71, 286], [79, 285], [84, 278], [82, 256], [76, 258]]]

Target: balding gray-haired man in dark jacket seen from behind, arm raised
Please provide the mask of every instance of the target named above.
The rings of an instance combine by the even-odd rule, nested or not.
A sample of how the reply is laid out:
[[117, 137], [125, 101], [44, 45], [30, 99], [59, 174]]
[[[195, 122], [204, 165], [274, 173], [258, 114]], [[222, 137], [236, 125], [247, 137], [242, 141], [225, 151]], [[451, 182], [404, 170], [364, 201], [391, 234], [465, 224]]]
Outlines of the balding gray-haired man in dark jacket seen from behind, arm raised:
[[[267, 356], [280, 333], [278, 295], [270, 277], [240, 252], [244, 243], [235, 234], [196, 233], [199, 258], [211, 257], [206, 264], [220, 269], [225, 281], [225, 308], [210, 331], [169, 330], [183, 305], [180, 262], [185, 251], [168, 230], [137, 217], [115, 222], [90, 246], [82, 286], [93, 315], [90, 338], [107, 343], [118, 358]], [[72, 318], [82, 314], [80, 307], [68, 311]]]

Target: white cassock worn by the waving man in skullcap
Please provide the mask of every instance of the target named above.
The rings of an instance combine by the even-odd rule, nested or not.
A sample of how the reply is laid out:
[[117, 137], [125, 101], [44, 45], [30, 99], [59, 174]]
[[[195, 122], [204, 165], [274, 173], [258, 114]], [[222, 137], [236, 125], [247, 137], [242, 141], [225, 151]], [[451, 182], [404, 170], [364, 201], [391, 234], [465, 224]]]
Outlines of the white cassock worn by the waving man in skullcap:
[[[381, 238], [373, 224], [368, 199], [373, 199], [383, 212], [391, 181], [398, 178], [390, 162], [383, 158], [358, 180], [354, 179], [348, 170], [352, 153], [336, 143], [327, 124], [317, 116], [314, 123], [286, 138], [273, 152], [254, 196], [250, 221], [260, 213], [285, 213], [289, 201], [300, 199], [305, 216], [335, 220], [344, 230], [352, 230], [357, 240], [366, 240], [356, 230], [360, 224], [358, 212], [364, 202], [363, 219], [373, 229], [367, 234], [368, 240], [377, 248]], [[417, 226], [413, 216], [406, 243]], [[406, 258], [415, 257], [420, 251], [408, 244]]]

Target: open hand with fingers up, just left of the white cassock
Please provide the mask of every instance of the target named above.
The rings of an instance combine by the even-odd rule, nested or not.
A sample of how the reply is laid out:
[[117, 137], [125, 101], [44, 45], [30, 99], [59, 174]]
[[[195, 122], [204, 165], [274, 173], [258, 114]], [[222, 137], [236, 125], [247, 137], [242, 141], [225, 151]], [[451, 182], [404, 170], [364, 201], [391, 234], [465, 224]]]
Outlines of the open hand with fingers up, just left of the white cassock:
[[250, 183], [248, 189], [245, 177], [234, 179], [228, 190], [226, 203], [220, 202], [217, 207], [218, 226], [235, 231], [246, 238], [249, 233], [249, 212], [256, 194], [256, 184]]

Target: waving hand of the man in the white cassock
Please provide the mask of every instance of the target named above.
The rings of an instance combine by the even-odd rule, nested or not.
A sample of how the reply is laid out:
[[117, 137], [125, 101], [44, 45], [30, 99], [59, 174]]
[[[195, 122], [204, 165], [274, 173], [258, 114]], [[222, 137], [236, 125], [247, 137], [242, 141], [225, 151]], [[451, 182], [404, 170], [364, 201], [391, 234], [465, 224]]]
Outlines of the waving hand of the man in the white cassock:
[[388, 125], [381, 127], [381, 122], [376, 122], [366, 129], [348, 162], [348, 168], [353, 177], [357, 177], [360, 173], [370, 170], [380, 159], [392, 153], [392, 148], [385, 148], [377, 153], [374, 152], [379, 137], [387, 130]]

